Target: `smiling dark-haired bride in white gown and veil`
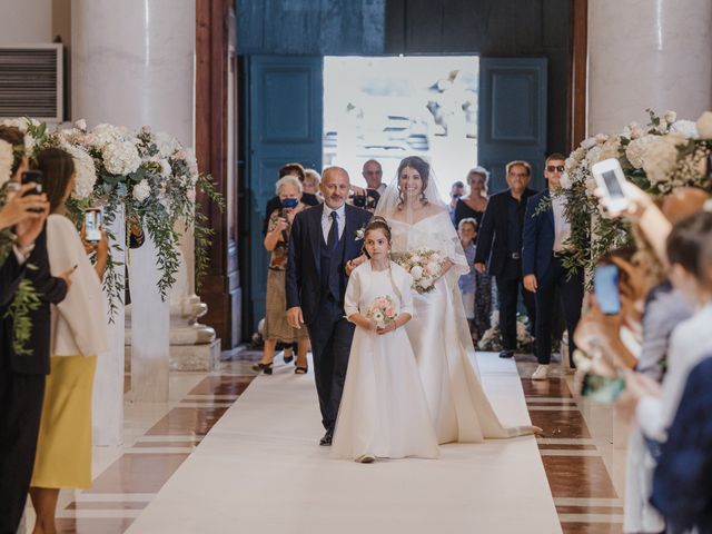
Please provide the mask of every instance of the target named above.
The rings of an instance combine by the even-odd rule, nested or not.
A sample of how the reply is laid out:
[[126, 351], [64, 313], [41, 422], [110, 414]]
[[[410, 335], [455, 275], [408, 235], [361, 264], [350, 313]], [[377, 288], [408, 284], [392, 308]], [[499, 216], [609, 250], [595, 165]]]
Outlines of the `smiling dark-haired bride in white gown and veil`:
[[429, 165], [417, 156], [400, 161], [395, 184], [386, 188], [375, 215], [384, 217], [392, 228], [395, 260], [418, 247], [446, 258], [434, 290], [414, 293], [415, 314], [406, 325], [438, 443], [482, 442], [538, 431], [502, 426], [469, 362], [468, 353], [474, 353], [474, 347], [457, 286], [469, 266], [431, 179]]

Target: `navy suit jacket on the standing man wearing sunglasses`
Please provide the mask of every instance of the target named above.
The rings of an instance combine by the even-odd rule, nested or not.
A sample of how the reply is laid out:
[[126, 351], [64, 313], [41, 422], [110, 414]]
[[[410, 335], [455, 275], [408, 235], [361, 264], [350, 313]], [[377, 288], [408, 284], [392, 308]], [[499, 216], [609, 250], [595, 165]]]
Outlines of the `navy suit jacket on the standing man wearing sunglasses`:
[[554, 210], [550, 205], [546, 211], [534, 215], [540, 202], [550, 198], [548, 189], [545, 189], [530, 197], [526, 202], [522, 239], [522, 274], [524, 276], [536, 275], [536, 278], [541, 279], [552, 261], [556, 237]]

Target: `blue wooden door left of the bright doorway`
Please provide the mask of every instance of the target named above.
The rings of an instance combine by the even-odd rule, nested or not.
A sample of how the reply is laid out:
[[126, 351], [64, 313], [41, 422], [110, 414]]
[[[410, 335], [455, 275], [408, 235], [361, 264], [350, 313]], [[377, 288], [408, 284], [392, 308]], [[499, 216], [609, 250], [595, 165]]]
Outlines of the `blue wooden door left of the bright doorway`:
[[[253, 327], [265, 316], [268, 253], [263, 246], [267, 201], [275, 196], [277, 171], [297, 161], [322, 170], [323, 59], [251, 56], [246, 60], [247, 209], [249, 209], [249, 300]], [[248, 319], [249, 320], [249, 319]]]

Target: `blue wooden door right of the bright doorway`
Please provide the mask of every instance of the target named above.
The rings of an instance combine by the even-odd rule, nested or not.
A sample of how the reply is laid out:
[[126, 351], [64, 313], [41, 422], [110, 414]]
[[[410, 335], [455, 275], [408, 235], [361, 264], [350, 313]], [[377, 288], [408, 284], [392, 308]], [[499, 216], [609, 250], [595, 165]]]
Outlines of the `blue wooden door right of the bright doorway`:
[[505, 189], [504, 166], [532, 165], [534, 189], [544, 188], [546, 58], [479, 59], [477, 160], [491, 172], [490, 191]]

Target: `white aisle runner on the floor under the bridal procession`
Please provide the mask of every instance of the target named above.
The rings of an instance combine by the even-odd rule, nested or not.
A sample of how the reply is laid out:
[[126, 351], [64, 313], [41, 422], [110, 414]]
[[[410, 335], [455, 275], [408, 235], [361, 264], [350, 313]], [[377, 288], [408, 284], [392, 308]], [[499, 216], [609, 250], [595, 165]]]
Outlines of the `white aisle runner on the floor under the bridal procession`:
[[[477, 357], [506, 425], [528, 423], [513, 362]], [[534, 437], [363, 465], [319, 447], [313, 375], [259, 376], [128, 533], [561, 533]]]

